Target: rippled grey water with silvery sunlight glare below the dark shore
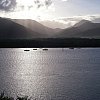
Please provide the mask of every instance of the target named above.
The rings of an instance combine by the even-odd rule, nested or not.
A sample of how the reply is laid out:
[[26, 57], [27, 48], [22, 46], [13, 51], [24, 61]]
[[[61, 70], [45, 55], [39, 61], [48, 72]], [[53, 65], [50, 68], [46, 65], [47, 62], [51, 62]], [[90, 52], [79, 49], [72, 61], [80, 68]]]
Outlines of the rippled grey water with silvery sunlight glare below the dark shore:
[[100, 48], [1, 48], [2, 91], [37, 100], [100, 100]]

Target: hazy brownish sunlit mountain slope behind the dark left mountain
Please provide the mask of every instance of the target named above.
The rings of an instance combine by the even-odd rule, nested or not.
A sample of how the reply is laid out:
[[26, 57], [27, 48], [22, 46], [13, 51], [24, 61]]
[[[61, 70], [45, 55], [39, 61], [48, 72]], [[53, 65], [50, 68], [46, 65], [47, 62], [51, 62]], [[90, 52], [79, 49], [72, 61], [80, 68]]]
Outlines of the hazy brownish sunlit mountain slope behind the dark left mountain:
[[18, 23], [26, 28], [29, 28], [32, 31], [46, 35], [46, 36], [51, 36], [51, 35], [54, 35], [56, 32], [58, 32], [57, 29], [46, 27], [42, 25], [41, 23], [35, 20], [31, 20], [31, 19], [11, 19], [11, 21]]

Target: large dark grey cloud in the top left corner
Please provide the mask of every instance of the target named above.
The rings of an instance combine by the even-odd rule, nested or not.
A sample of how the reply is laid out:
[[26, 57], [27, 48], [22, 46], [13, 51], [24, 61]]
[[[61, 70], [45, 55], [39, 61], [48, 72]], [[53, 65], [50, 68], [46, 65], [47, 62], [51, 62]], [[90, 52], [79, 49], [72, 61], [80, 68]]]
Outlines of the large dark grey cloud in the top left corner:
[[0, 10], [12, 11], [16, 6], [16, 0], [0, 0]]

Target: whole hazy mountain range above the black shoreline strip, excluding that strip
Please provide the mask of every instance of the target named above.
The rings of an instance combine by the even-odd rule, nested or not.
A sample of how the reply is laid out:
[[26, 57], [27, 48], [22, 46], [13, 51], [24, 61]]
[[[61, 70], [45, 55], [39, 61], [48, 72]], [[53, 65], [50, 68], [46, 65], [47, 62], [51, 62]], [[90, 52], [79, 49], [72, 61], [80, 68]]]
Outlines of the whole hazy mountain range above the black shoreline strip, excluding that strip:
[[0, 18], [0, 38], [100, 38], [100, 23], [82, 20], [66, 29], [48, 28], [37, 21]]

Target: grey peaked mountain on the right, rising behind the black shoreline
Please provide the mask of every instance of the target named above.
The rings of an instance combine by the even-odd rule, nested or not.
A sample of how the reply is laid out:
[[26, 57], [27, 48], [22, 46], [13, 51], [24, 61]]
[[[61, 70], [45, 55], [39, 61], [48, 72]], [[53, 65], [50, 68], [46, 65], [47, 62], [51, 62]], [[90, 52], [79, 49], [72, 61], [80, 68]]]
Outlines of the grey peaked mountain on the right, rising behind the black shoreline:
[[55, 38], [100, 38], [100, 23], [92, 23], [88, 20], [82, 20], [73, 27], [62, 30], [57, 33]]

